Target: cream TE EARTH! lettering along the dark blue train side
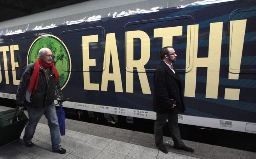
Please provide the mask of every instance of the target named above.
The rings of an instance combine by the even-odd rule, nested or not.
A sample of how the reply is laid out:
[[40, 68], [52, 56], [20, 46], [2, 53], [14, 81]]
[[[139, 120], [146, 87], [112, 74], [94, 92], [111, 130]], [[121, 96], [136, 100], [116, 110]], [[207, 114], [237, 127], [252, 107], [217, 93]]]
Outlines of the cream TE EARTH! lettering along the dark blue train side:
[[[229, 79], [238, 79], [240, 64], [242, 58], [242, 49], [244, 44], [246, 19], [230, 22], [230, 68], [228, 73]], [[185, 74], [185, 93], [186, 97], [195, 97], [196, 93], [196, 68], [207, 67], [206, 82], [206, 98], [217, 99], [219, 87], [219, 72], [221, 59], [221, 42], [223, 32], [223, 22], [210, 23], [209, 31], [209, 52], [208, 57], [198, 58], [198, 31], [199, 25], [187, 26], [187, 52], [186, 52], [186, 68]], [[162, 46], [172, 46], [174, 36], [182, 36], [182, 26], [165, 27], [154, 29], [154, 38], [162, 37]], [[141, 41], [141, 58], [134, 60], [134, 39]], [[151, 94], [149, 82], [146, 74], [145, 65], [150, 58], [151, 41], [149, 35], [144, 31], [127, 31], [125, 32], [125, 64], [126, 64], [126, 92], [133, 93], [133, 70], [137, 69], [140, 86], [143, 94]], [[119, 57], [117, 52], [115, 33], [106, 34], [105, 53], [103, 61], [103, 72], [101, 89], [100, 84], [90, 82], [90, 66], [96, 66], [96, 59], [89, 58], [89, 43], [97, 43], [98, 35], [82, 36], [82, 68], [83, 84], [85, 90], [107, 91], [108, 82], [113, 81], [116, 92], [123, 92], [123, 84], [121, 80], [121, 70], [119, 65]], [[233, 46], [233, 47], [232, 47]], [[13, 84], [18, 85], [19, 80], [16, 78], [16, 68], [19, 63], [15, 62], [16, 51], [19, 45], [0, 46], [0, 53], [3, 55], [5, 82], [9, 84], [9, 74], [7, 62], [11, 62]], [[11, 60], [7, 60], [7, 53], [10, 53]], [[110, 58], [112, 59], [113, 73], [110, 70]], [[0, 82], [2, 82], [2, 71], [0, 71]], [[239, 100], [240, 89], [225, 89], [224, 99]]]

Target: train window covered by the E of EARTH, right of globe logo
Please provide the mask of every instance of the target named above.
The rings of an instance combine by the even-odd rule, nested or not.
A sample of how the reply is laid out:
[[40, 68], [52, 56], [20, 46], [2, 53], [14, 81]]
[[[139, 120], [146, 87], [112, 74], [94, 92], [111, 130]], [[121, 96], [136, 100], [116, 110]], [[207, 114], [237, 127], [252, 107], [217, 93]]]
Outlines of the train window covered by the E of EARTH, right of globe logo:
[[[72, 36], [71, 36], [72, 35]], [[104, 69], [105, 30], [101, 26], [63, 31], [61, 41], [66, 44], [72, 59], [72, 69], [65, 71], [96, 71]], [[72, 39], [70, 37], [77, 37]], [[81, 44], [77, 46], [76, 44]], [[83, 66], [81, 68], [81, 66]]]

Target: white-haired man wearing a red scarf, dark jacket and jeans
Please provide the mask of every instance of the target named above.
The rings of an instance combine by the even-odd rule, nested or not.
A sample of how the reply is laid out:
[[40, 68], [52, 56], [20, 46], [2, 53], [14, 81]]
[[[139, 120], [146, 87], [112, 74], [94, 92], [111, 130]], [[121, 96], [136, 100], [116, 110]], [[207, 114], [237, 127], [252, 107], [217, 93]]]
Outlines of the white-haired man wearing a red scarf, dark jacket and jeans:
[[53, 102], [57, 99], [60, 103], [63, 95], [52, 56], [50, 49], [42, 48], [37, 61], [26, 66], [19, 82], [16, 102], [19, 109], [23, 109], [23, 106], [28, 109], [29, 119], [23, 137], [26, 146], [34, 146], [31, 140], [35, 128], [42, 115], [45, 115], [51, 132], [53, 152], [65, 154], [66, 150], [60, 145], [60, 128]]

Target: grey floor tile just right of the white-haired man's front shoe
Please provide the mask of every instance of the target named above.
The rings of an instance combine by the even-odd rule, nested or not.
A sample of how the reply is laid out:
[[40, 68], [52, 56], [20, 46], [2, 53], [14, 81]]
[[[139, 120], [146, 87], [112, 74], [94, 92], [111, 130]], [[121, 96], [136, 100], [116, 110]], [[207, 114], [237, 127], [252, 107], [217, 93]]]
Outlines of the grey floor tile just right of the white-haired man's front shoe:
[[66, 137], [65, 140], [61, 141], [61, 147], [67, 150], [68, 153], [74, 151], [80, 145], [84, 144], [83, 141], [77, 140], [75, 138]]

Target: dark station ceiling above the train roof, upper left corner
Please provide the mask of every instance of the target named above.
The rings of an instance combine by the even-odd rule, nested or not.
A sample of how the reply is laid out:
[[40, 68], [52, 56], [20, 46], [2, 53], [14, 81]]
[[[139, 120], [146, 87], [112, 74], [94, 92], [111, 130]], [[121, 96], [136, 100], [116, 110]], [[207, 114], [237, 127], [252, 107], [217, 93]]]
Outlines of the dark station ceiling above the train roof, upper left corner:
[[88, 0], [0, 0], [0, 22]]

